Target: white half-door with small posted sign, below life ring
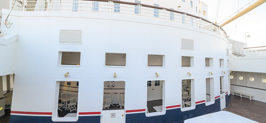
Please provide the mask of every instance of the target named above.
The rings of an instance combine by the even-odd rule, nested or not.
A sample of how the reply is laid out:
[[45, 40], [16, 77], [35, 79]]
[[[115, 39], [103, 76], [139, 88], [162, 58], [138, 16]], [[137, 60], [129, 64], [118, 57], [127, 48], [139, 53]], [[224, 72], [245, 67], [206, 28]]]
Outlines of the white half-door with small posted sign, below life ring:
[[124, 109], [103, 110], [102, 123], [124, 123]]

